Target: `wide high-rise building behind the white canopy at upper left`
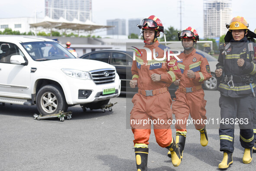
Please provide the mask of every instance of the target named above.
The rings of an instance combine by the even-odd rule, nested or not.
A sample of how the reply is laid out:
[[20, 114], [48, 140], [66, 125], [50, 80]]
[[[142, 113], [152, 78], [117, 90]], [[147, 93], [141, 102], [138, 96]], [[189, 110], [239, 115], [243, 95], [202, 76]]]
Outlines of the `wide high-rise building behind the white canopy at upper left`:
[[45, 0], [45, 16], [52, 19], [62, 17], [68, 21], [91, 21], [91, 0]]

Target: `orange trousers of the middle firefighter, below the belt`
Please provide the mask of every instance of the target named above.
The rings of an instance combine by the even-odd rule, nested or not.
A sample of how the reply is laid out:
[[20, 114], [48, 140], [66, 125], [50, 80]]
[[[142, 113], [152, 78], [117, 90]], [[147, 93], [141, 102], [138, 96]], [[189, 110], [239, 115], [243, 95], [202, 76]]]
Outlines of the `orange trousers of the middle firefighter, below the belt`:
[[[175, 129], [179, 132], [186, 131], [187, 120], [190, 113], [191, 119], [196, 129], [203, 129], [205, 124], [206, 100], [204, 100], [204, 90], [196, 90], [184, 93], [179, 90], [175, 92], [177, 99], [172, 104], [172, 111], [175, 114]], [[197, 122], [198, 121], [198, 122]]]

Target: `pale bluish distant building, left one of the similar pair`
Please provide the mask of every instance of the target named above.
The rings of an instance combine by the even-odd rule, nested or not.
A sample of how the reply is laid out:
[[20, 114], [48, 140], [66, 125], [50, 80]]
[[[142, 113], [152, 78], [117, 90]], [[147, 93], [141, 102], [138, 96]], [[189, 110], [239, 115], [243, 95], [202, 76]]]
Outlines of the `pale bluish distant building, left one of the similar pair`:
[[125, 19], [108, 19], [107, 26], [114, 26], [107, 30], [107, 35], [126, 35]]

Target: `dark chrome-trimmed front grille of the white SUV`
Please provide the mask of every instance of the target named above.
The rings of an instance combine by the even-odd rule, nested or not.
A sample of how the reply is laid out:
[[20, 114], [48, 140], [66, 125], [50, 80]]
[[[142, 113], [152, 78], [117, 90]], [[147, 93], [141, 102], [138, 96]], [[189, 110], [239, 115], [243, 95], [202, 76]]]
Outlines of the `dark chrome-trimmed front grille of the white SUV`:
[[106, 84], [115, 81], [115, 70], [111, 68], [90, 71], [95, 84]]

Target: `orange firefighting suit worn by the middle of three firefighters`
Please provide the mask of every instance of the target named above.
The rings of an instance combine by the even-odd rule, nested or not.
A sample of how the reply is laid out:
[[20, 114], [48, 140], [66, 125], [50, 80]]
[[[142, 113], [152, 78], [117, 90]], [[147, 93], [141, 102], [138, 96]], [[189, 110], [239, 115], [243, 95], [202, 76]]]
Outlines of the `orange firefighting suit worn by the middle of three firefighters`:
[[[193, 122], [196, 129], [203, 129], [205, 126], [203, 121], [207, 119], [205, 116], [206, 100], [204, 100], [204, 90], [201, 84], [203, 84], [203, 81], [211, 78], [211, 71], [207, 59], [201, 53], [196, 52], [196, 49], [190, 54], [182, 52], [178, 55], [178, 58], [181, 59], [181, 61], [178, 61], [178, 65], [182, 76], [179, 81], [178, 90], [175, 92], [176, 99], [172, 104], [172, 110], [176, 119], [176, 131], [186, 134], [189, 113], [195, 121], [200, 120], [200, 123], [198, 121], [199, 124]], [[188, 70], [194, 71], [195, 78], [187, 76]]]

